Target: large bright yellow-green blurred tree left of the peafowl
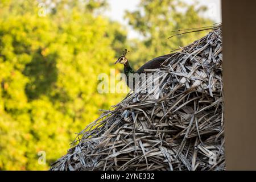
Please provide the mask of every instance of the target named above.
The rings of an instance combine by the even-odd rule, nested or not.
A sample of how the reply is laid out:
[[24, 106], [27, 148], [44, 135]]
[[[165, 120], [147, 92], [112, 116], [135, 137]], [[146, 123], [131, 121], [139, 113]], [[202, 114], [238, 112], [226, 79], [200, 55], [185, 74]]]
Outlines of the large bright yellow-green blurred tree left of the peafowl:
[[[98, 74], [114, 61], [114, 38], [105, 35], [108, 20], [76, 7], [39, 17], [37, 6], [2, 6], [0, 169], [48, 169], [98, 109], [123, 97], [97, 93]], [[12, 6], [16, 11], [7, 12]], [[38, 163], [39, 151], [46, 165]]]

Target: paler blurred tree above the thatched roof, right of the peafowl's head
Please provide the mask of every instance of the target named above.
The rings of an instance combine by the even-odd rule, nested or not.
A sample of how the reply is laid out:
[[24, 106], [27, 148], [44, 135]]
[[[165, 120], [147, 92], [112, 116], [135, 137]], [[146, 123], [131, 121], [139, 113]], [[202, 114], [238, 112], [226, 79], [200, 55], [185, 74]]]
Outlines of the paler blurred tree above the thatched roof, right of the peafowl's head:
[[205, 10], [207, 7], [197, 3], [141, 0], [137, 10], [126, 11], [125, 17], [130, 26], [142, 37], [142, 41], [134, 40], [131, 44], [129, 57], [134, 67], [139, 68], [146, 60], [167, 54], [206, 35], [208, 32], [195, 32], [168, 39], [174, 30], [211, 26], [212, 20], [201, 16]]

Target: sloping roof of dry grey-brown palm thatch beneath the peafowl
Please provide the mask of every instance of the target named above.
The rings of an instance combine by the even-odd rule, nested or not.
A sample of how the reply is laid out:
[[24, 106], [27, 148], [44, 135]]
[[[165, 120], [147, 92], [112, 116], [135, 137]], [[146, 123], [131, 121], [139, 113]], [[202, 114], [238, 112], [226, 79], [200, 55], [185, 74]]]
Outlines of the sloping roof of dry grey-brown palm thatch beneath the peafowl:
[[51, 170], [224, 170], [221, 27], [166, 61], [152, 92], [102, 113]]

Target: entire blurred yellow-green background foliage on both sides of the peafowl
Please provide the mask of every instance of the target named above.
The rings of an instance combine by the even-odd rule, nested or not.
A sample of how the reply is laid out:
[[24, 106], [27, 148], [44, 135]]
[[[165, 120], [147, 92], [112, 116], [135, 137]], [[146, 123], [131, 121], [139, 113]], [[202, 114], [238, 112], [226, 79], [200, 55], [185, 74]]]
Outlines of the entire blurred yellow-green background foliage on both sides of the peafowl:
[[138, 68], [204, 34], [168, 40], [171, 30], [212, 23], [199, 16], [201, 7], [141, 0], [143, 11], [127, 18], [143, 40], [127, 40], [124, 27], [101, 16], [106, 0], [53, 0], [46, 9], [39, 2], [0, 2], [0, 170], [48, 169], [98, 109], [122, 100], [125, 94], [99, 94], [97, 76], [110, 75], [124, 48]]

